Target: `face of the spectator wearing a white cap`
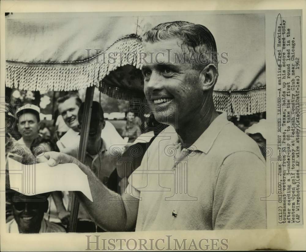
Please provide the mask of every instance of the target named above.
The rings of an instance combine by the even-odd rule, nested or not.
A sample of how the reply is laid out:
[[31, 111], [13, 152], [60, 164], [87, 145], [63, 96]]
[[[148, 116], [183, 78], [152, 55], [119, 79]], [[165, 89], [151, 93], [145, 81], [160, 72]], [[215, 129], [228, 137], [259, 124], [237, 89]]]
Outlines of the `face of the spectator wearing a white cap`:
[[24, 113], [18, 119], [18, 130], [22, 137], [35, 138], [38, 136], [39, 125], [35, 115]]

